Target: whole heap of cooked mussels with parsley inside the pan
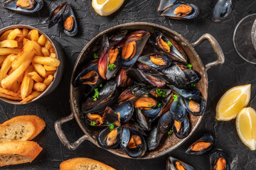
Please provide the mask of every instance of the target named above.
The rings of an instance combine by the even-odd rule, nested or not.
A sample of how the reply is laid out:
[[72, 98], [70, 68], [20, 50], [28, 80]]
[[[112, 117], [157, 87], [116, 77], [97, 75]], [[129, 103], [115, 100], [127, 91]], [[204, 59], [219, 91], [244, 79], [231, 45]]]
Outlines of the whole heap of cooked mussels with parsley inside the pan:
[[188, 113], [203, 115], [206, 101], [196, 89], [201, 75], [183, 48], [159, 31], [103, 35], [94, 58], [73, 86], [86, 90], [80, 118], [101, 131], [101, 147], [142, 157], [172, 130], [180, 139], [188, 136]]

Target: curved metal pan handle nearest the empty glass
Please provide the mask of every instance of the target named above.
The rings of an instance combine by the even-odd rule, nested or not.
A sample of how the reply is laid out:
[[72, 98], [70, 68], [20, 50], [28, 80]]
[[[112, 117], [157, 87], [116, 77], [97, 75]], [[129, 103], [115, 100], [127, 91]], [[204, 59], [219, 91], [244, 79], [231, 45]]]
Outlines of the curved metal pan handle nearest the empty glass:
[[208, 40], [210, 42], [210, 45], [213, 47], [213, 50], [218, 57], [218, 59], [215, 62], [210, 62], [210, 63], [206, 64], [206, 71], [207, 71], [211, 67], [215, 67], [217, 65], [223, 64], [225, 62], [225, 57], [224, 57], [223, 50], [221, 49], [218, 41], [213, 37], [213, 35], [210, 35], [208, 33], [202, 35], [201, 38], [196, 40], [196, 42], [192, 42], [192, 46], [196, 47], [196, 46], [200, 45], [205, 40]]

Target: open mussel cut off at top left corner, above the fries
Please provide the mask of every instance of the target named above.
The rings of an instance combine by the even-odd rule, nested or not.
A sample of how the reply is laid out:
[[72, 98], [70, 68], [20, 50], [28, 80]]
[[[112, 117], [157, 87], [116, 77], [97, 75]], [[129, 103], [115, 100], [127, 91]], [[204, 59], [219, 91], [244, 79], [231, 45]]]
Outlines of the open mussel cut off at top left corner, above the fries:
[[30, 0], [28, 6], [19, 5], [17, 4], [17, 1], [14, 0], [2, 0], [1, 4], [4, 8], [23, 14], [35, 13], [43, 8], [43, 0]]

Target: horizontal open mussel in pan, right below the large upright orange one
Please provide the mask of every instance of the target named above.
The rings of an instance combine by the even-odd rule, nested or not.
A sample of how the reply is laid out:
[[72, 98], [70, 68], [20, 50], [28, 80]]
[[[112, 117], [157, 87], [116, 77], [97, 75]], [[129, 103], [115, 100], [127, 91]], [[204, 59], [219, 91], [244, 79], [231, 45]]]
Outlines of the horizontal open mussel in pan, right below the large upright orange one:
[[168, 55], [156, 53], [139, 57], [138, 62], [149, 65], [154, 69], [165, 69], [171, 65], [171, 58]]

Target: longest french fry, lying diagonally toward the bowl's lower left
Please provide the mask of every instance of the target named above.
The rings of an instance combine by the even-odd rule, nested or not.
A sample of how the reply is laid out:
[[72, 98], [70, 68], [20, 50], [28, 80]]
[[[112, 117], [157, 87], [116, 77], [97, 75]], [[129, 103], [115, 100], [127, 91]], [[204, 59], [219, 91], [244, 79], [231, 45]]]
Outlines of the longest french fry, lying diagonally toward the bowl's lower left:
[[33, 56], [34, 53], [30, 52], [28, 57], [26, 57], [26, 60], [21, 64], [21, 66], [18, 67], [18, 69], [15, 69], [14, 72], [12, 72], [8, 77], [1, 81], [1, 86], [4, 89], [9, 89], [11, 85], [14, 84], [14, 82], [18, 79], [18, 77], [20, 77], [21, 74], [23, 74], [26, 71], [26, 69], [31, 64]]

